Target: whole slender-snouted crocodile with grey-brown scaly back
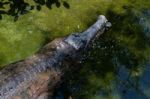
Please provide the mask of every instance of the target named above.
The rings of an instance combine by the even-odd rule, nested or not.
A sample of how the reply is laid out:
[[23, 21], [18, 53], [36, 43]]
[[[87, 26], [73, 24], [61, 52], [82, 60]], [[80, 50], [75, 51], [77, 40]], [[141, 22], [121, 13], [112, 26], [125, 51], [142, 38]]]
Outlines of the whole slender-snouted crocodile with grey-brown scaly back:
[[[74, 57], [111, 27], [104, 15], [83, 33], [73, 33], [46, 44], [34, 55], [0, 70], [0, 99], [47, 99], [63, 75], [60, 63]], [[50, 98], [48, 98], [50, 99]]]

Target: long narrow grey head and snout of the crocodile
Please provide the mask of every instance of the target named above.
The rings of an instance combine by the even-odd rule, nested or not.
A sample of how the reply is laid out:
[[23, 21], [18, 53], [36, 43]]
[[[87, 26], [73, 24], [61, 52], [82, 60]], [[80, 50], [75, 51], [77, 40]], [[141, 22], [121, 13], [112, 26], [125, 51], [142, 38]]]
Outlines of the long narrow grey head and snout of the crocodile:
[[83, 33], [73, 33], [65, 39], [65, 42], [73, 46], [76, 50], [86, 47], [95, 36], [102, 34], [111, 27], [104, 15], [100, 15], [97, 22]]

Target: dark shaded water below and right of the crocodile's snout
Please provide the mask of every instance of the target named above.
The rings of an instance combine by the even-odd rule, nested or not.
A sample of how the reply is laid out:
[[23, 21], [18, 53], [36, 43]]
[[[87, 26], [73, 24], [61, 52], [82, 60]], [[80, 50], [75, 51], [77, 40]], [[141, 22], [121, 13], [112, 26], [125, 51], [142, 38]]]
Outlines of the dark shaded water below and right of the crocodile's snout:
[[145, 29], [145, 24], [140, 23], [145, 10], [139, 14], [130, 6], [123, 8], [123, 14], [112, 8], [107, 11], [112, 29], [96, 40], [78, 63], [71, 65], [80, 71], [70, 69], [66, 73], [54, 99], [150, 98], [150, 60], [149, 54], [143, 54], [150, 46], [145, 35], [150, 27]]

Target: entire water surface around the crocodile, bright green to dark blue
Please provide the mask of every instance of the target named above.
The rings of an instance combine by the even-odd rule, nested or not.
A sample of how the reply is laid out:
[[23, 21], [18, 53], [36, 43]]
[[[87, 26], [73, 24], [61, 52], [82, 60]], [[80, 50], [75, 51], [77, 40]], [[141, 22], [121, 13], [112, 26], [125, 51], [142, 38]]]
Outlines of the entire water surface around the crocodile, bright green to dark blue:
[[[30, 0], [27, 0], [31, 2]], [[98, 15], [112, 28], [90, 46], [78, 73], [57, 89], [58, 99], [149, 99], [150, 1], [67, 0], [70, 8], [52, 5], [31, 10], [14, 22], [0, 20], [0, 66], [24, 59], [44, 44], [72, 32], [82, 32]], [[31, 2], [33, 3], [33, 2]]]

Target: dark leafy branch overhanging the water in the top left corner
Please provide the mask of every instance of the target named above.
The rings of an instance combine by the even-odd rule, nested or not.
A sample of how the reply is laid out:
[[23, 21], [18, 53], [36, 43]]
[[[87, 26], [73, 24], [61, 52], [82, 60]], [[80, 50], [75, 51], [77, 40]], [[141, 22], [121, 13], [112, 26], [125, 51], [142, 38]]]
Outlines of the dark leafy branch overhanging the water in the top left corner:
[[40, 11], [42, 6], [52, 9], [52, 5], [56, 5], [59, 8], [61, 4], [67, 9], [70, 8], [70, 5], [64, 0], [32, 0], [29, 2], [25, 0], [1, 0], [0, 19], [2, 19], [3, 14], [7, 14], [13, 16], [14, 21], [17, 21], [19, 16], [30, 12], [30, 10], [36, 9]]

